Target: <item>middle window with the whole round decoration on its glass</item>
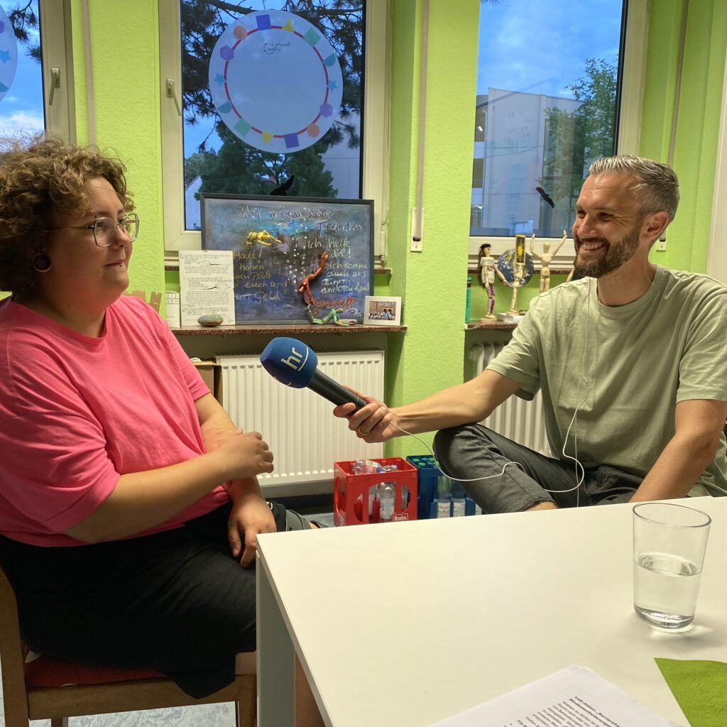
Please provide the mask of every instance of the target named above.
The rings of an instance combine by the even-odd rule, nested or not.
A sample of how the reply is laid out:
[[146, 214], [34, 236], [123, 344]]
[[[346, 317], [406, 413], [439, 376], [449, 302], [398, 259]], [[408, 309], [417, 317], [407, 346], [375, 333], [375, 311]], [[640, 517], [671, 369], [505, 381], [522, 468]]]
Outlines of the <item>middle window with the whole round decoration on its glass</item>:
[[386, 1], [254, 0], [238, 12], [159, 0], [159, 17], [166, 249], [200, 246], [200, 191], [276, 192], [373, 198], [382, 254], [387, 59], [365, 49], [385, 35]]

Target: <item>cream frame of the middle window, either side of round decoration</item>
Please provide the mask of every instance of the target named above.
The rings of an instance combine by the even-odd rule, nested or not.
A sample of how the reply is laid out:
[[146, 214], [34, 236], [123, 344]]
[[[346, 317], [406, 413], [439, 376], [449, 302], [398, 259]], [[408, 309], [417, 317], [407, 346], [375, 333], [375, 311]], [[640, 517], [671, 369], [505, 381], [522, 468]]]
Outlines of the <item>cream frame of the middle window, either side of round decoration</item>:
[[[164, 249], [167, 264], [174, 265], [180, 250], [201, 249], [201, 233], [185, 229], [182, 116], [177, 112], [174, 97], [167, 91], [167, 79], [174, 80], [177, 101], [181, 103], [180, 2], [158, 1]], [[381, 265], [386, 257], [388, 217], [389, 0], [367, 0], [365, 17], [366, 87], [361, 141], [366, 151], [361, 169], [362, 198], [374, 200], [374, 259]], [[375, 52], [382, 47], [387, 49], [386, 53]]]

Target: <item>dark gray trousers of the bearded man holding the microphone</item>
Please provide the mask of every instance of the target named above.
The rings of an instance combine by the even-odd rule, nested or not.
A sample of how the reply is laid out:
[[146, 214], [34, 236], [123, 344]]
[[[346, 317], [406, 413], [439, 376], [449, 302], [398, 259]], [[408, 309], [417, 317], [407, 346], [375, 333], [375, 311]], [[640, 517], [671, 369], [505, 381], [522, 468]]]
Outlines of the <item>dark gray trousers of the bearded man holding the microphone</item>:
[[[587, 467], [575, 490], [580, 476], [575, 462], [545, 457], [480, 424], [437, 432], [434, 451], [447, 474], [458, 481], [462, 478], [462, 487], [483, 513], [519, 513], [539, 502], [555, 502], [558, 507], [628, 502], [643, 479], [608, 465]], [[510, 465], [489, 480], [466, 481], [497, 475], [507, 462], [518, 462], [523, 469]]]

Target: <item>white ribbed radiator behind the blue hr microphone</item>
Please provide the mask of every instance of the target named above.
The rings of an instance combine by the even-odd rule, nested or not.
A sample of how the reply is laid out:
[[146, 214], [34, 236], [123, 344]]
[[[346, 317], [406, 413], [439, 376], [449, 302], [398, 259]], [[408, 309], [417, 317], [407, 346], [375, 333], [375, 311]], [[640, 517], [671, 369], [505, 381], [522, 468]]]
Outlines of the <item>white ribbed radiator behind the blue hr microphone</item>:
[[[334, 404], [309, 389], [278, 383], [259, 356], [217, 356], [217, 363], [225, 410], [238, 427], [260, 432], [275, 457], [275, 471], [258, 478], [264, 488], [278, 494], [330, 491], [334, 462], [383, 456], [383, 444], [367, 444], [345, 419], [333, 416]], [[382, 350], [318, 353], [318, 369], [340, 384], [384, 398]], [[300, 483], [318, 487], [291, 487]]]

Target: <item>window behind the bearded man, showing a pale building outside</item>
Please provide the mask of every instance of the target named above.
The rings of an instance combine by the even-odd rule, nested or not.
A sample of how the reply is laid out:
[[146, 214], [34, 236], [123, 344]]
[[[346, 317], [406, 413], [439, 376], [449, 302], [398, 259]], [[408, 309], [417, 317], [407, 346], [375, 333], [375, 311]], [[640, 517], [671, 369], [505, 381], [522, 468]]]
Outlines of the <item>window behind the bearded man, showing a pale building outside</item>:
[[[470, 255], [482, 236], [499, 254], [518, 232], [570, 234], [589, 164], [638, 150], [646, 3], [586, 0], [574, 7], [481, 4], [473, 188], [482, 177], [482, 189], [471, 201], [481, 214], [471, 225]], [[521, 32], [525, 17], [537, 39]], [[559, 257], [564, 253], [572, 258], [572, 244]]]

